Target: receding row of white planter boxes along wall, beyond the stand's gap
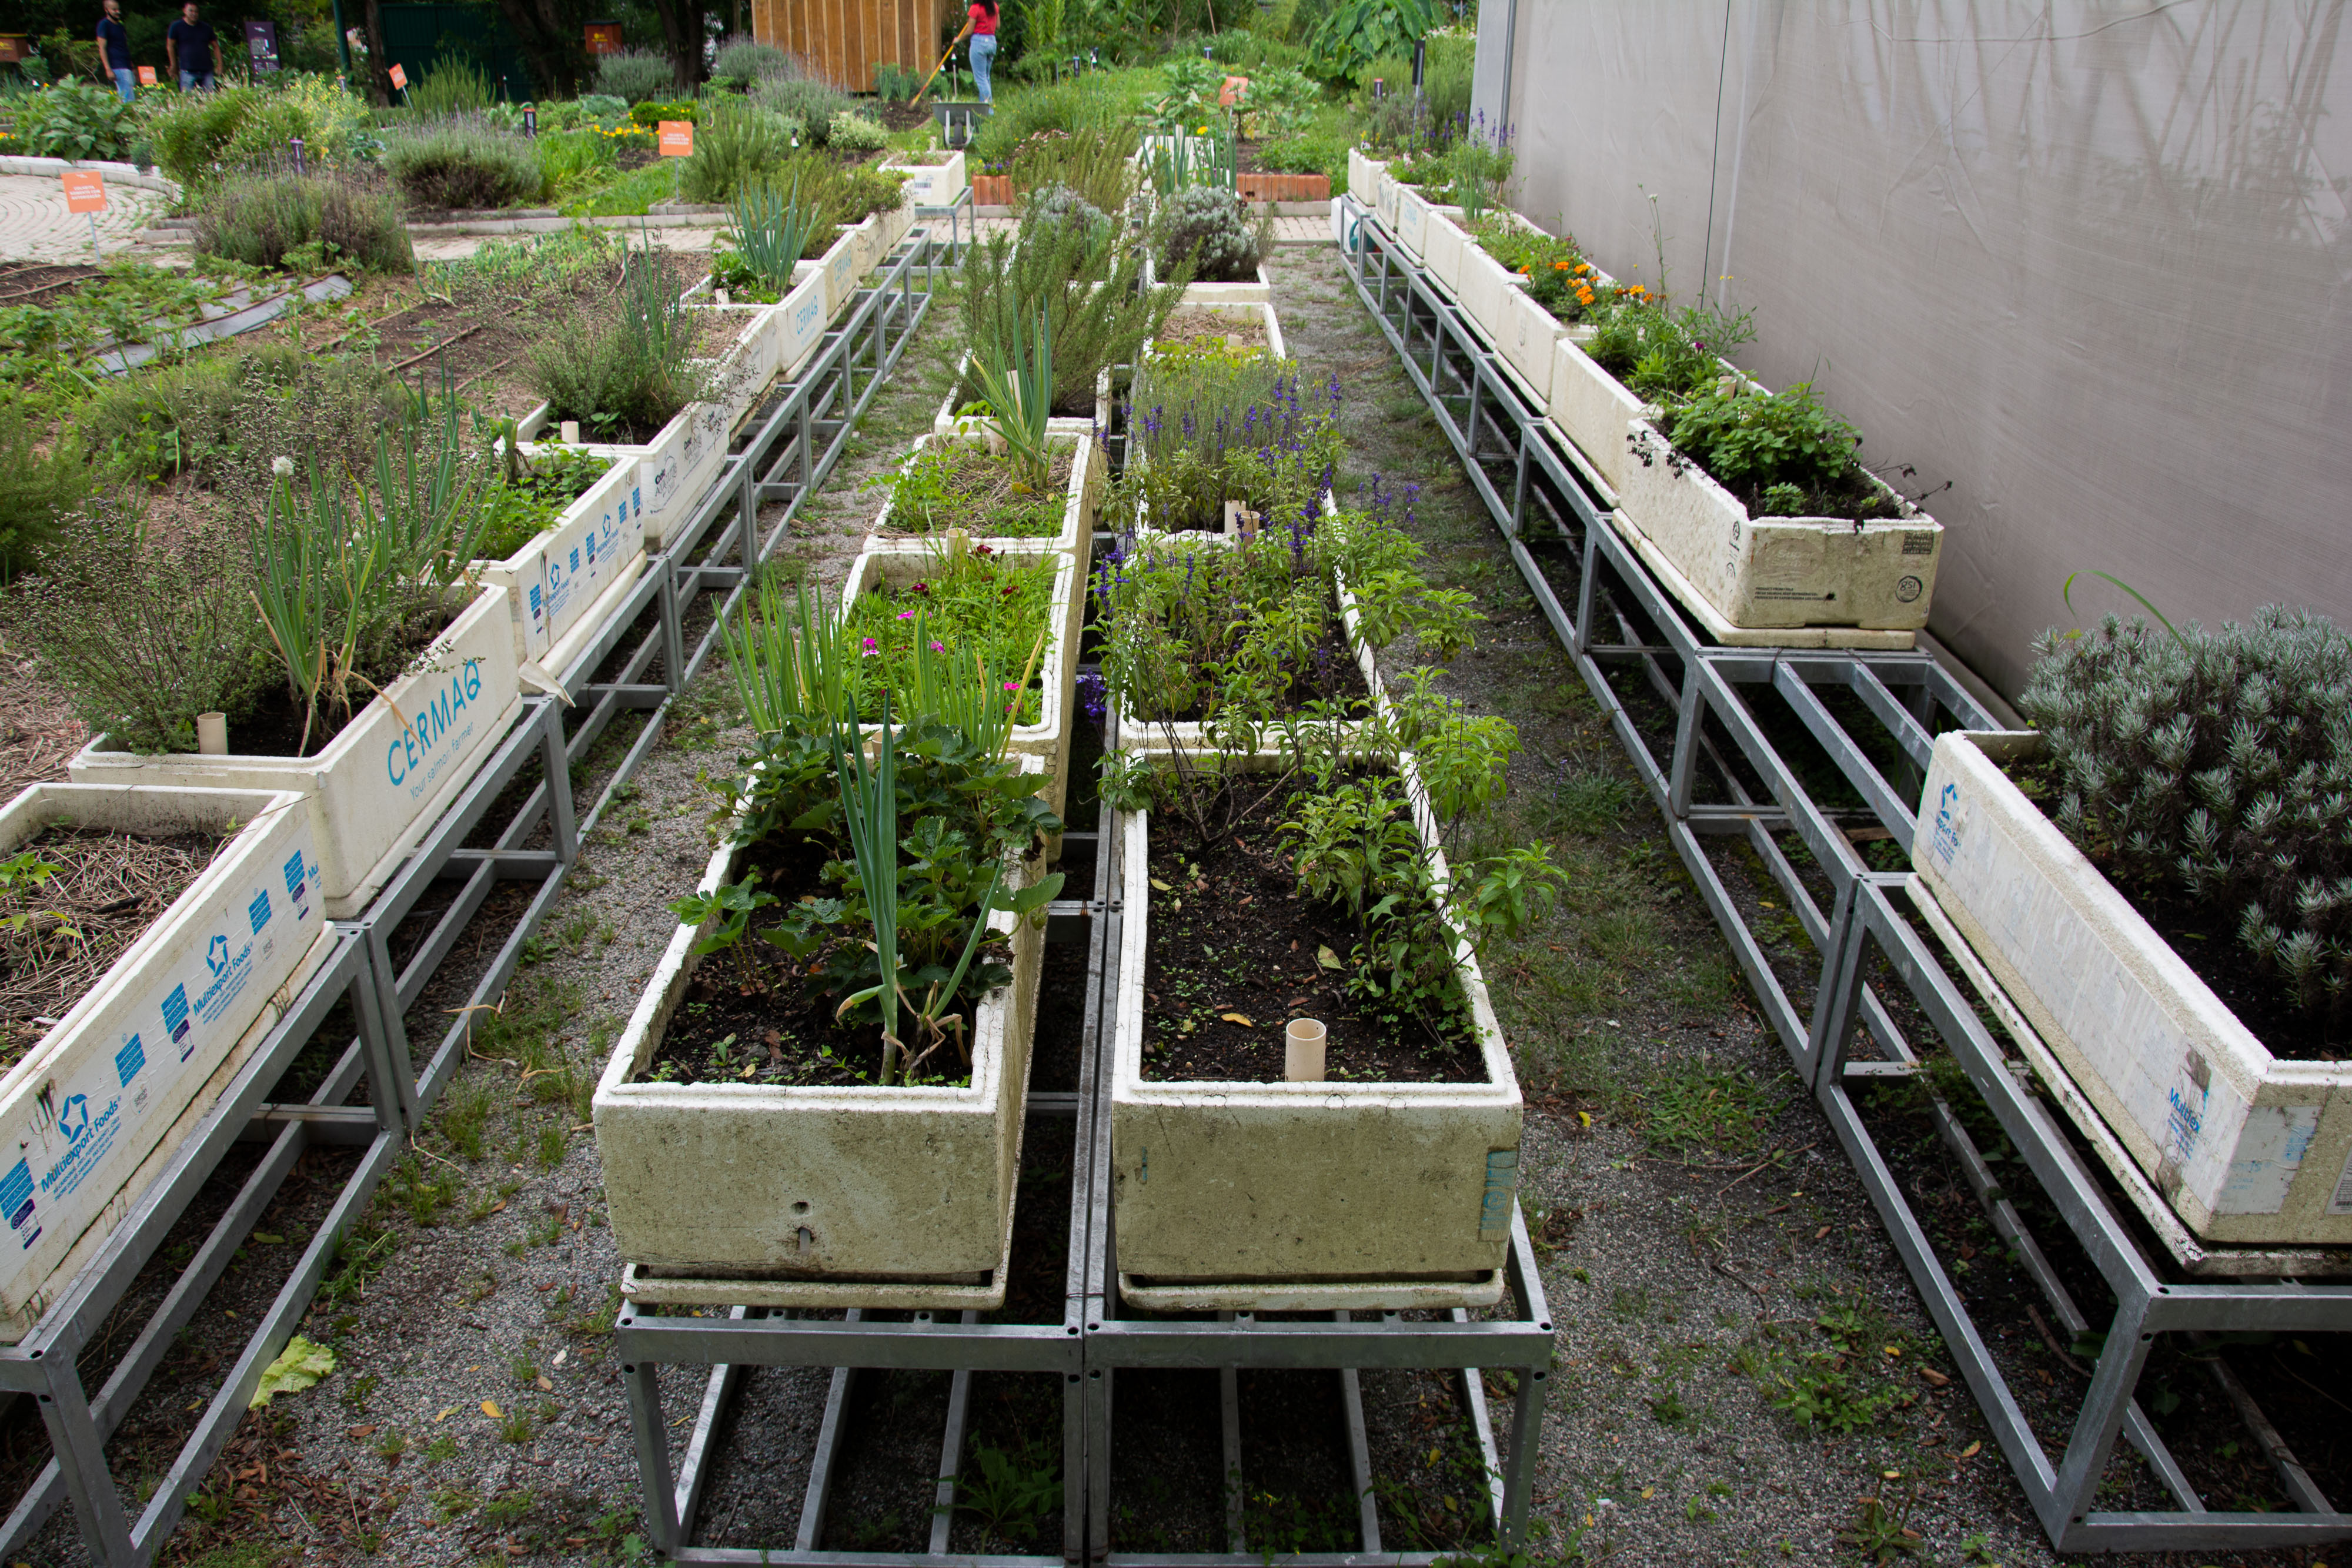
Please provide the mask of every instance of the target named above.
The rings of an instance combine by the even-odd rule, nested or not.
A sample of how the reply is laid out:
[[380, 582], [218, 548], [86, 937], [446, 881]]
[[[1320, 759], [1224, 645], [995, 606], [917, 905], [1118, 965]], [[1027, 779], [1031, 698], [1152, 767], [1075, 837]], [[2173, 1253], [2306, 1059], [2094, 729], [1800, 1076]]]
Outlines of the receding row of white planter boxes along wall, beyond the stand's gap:
[[[1668, 461], [1651, 409], [1583, 350], [1590, 329], [1536, 303], [1524, 280], [1461, 226], [1458, 207], [1425, 200], [1362, 153], [1350, 153], [1350, 188], [1378, 190], [1364, 200], [1461, 303], [1526, 400], [1590, 461], [1611, 491], [1618, 527], [1646, 545], [1644, 555], [1710, 630], [1750, 639], [1740, 632], [1926, 625], [1943, 557], [1943, 527], [1933, 517], [1884, 484], [1896, 512], [1889, 520], [1752, 517], [1705, 470]], [[1498, 219], [1534, 228], [1519, 214]]]

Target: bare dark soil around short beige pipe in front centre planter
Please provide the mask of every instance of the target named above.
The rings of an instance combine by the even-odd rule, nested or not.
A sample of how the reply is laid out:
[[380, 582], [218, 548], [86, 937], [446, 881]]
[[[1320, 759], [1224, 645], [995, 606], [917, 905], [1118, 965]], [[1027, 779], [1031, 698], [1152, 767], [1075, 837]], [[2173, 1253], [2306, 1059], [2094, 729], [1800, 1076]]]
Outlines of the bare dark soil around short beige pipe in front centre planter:
[[1143, 1077], [1279, 1084], [1284, 1025], [1319, 1018], [1334, 1081], [1484, 1084], [1475, 1039], [1439, 1039], [1411, 1016], [1390, 1020], [1348, 997], [1345, 971], [1319, 954], [1345, 964], [1357, 931], [1294, 891], [1277, 820], [1268, 804], [1204, 844], [1181, 813], [1152, 813], [1152, 882], [1129, 891], [1150, 898]]

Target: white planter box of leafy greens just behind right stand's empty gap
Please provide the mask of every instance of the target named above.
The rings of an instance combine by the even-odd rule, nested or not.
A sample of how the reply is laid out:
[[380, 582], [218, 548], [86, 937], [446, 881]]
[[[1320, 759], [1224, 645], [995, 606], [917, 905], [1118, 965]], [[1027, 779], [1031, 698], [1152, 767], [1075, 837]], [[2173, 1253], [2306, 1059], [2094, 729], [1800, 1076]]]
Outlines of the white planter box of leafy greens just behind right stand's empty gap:
[[[1696, 463], [1668, 461], [1649, 421], [1630, 425], [1635, 461], [1618, 487], [1621, 515], [1691, 588], [1738, 628], [1858, 625], [1915, 632], [1936, 597], [1943, 524], [1893, 496], [1889, 520], [1750, 517]], [[1642, 454], [1651, 456], [1642, 465]]]

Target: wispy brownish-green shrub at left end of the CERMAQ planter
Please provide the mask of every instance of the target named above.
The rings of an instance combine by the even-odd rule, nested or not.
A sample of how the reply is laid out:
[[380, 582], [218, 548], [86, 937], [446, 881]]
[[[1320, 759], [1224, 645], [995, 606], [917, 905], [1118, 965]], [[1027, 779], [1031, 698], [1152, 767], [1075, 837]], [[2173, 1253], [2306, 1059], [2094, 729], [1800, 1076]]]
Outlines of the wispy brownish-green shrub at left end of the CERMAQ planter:
[[113, 501], [73, 515], [19, 616], [108, 745], [193, 752], [195, 715], [249, 708], [268, 668], [242, 555], [226, 529], [151, 531]]

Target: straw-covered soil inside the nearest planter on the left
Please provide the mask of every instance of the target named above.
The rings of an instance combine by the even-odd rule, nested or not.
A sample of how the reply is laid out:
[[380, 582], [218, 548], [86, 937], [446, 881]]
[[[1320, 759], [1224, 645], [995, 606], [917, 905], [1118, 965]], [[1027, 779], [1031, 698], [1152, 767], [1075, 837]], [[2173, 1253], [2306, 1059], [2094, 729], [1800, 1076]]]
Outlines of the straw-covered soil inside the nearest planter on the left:
[[0, 896], [0, 1067], [12, 1067], [64, 1018], [122, 952], [205, 875], [226, 832], [129, 835], [45, 827], [19, 853], [56, 872]]

